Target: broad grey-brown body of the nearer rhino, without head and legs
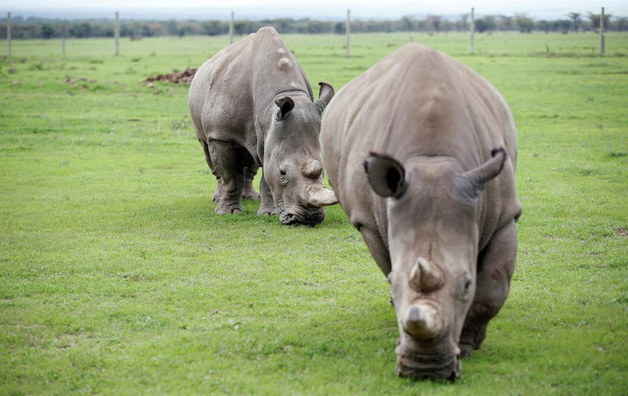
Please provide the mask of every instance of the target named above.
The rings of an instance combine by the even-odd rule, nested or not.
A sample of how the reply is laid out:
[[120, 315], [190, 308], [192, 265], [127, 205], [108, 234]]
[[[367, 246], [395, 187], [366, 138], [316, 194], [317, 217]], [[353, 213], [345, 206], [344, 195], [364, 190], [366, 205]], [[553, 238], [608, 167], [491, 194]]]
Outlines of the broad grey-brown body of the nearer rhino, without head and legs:
[[370, 189], [363, 170], [370, 151], [401, 163], [452, 156], [471, 169], [488, 161], [491, 149], [505, 147], [503, 174], [481, 196], [480, 248], [521, 211], [512, 113], [486, 80], [434, 49], [408, 44], [345, 85], [330, 103], [321, 134], [325, 168], [344, 211], [354, 225], [378, 230], [385, 244], [386, 201]]

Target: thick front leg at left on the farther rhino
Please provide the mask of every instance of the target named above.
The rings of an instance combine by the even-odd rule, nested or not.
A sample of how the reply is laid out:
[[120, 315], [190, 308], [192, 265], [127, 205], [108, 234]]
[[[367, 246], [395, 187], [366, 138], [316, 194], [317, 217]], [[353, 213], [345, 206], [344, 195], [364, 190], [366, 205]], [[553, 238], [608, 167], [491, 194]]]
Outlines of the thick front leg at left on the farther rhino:
[[[238, 214], [244, 211], [242, 206], [242, 191], [245, 182], [244, 163], [241, 151], [237, 144], [231, 142], [212, 141], [207, 144], [212, 159], [212, 165], [218, 175], [217, 180], [222, 185], [222, 197], [216, 206], [217, 214]], [[216, 189], [216, 194], [219, 193]]]

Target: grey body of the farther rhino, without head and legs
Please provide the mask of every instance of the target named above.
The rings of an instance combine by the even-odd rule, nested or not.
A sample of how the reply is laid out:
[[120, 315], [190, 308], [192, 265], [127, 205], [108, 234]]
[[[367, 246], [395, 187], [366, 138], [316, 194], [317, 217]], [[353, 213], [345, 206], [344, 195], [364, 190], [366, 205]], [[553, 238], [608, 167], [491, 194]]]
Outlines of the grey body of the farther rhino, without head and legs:
[[274, 28], [262, 27], [205, 61], [188, 101], [207, 140], [236, 142], [254, 154], [259, 135], [270, 126], [275, 97], [291, 91], [313, 100], [301, 65]]

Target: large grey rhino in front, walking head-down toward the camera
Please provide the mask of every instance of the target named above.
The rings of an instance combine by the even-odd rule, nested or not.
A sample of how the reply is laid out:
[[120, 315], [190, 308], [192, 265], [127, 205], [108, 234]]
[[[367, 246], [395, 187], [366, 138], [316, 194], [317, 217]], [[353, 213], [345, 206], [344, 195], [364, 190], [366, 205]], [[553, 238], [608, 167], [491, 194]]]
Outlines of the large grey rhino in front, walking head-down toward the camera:
[[462, 63], [408, 44], [336, 94], [321, 135], [334, 192], [392, 285], [397, 373], [457, 378], [514, 270], [509, 107]]

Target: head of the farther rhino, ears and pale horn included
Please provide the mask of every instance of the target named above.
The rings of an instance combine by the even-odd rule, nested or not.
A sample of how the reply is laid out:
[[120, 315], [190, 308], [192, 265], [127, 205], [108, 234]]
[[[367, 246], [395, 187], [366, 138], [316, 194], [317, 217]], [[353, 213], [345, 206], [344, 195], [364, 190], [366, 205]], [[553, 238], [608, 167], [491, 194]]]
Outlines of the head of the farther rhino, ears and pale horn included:
[[265, 138], [264, 178], [272, 192], [279, 220], [315, 225], [325, 218], [323, 206], [338, 199], [322, 183], [320, 123], [334, 88], [320, 82], [318, 101], [303, 95], [280, 97]]

